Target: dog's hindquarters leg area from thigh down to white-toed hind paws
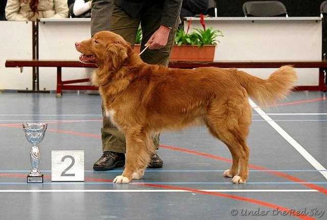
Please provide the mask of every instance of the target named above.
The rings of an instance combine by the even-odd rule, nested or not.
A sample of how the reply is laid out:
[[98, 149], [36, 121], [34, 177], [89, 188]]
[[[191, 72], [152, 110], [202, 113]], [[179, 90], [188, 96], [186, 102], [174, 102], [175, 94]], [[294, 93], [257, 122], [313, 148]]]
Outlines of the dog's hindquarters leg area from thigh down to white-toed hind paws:
[[251, 107], [247, 100], [227, 100], [224, 105], [212, 103], [205, 123], [209, 131], [223, 141], [232, 156], [232, 165], [223, 176], [232, 177], [233, 183], [248, 179], [249, 148], [246, 137], [251, 122]]

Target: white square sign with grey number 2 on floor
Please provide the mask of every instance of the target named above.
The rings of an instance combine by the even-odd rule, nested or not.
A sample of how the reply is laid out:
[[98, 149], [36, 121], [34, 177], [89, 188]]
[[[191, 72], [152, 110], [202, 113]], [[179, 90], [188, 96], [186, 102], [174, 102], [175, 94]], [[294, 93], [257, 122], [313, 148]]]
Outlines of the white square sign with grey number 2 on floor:
[[51, 181], [84, 181], [84, 151], [51, 151]]

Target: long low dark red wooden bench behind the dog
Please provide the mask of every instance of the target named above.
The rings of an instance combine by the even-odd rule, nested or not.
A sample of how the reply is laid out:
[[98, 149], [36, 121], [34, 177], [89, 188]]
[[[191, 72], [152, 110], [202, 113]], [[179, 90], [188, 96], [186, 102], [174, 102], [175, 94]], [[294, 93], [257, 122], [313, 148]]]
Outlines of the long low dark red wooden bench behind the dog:
[[[296, 90], [326, 91], [325, 69], [327, 60], [290, 60], [290, 61], [217, 61], [217, 62], [170, 62], [172, 68], [196, 68], [214, 66], [220, 68], [279, 68], [283, 65], [293, 65], [296, 68], [319, 68], [319, 84], [317, 86], [298, 86]], [[61, 97], [62, 90], [97, 90], [94, 86], [71, 85], [74, 83], [89, 82], [89, 79], [62, 81], [62, 67], [96, 68], [95, 64], [84, 64], [76, 60], [7, 60], [6, 67], [56, 67], [57, 68], [57, 97]]]

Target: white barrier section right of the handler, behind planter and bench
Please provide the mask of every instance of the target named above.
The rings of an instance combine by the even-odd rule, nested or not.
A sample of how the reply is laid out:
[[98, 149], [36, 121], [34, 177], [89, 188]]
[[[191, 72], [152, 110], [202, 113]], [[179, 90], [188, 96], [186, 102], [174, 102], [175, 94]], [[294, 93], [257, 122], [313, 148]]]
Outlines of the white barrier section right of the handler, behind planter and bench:
[[[322, 24], [320, 18], [210, 18], [206, 27], [223, 32], [216, 46], [215, 60], [320, 60]], [[184, 26], [187, 27], [187, 21]], [[202, 29], [193, 18], [191, 30]], [[274, 69], [245, 69], [267, 78]], [[297, 85], [318, 85], [319, 70], [298, 69]]]

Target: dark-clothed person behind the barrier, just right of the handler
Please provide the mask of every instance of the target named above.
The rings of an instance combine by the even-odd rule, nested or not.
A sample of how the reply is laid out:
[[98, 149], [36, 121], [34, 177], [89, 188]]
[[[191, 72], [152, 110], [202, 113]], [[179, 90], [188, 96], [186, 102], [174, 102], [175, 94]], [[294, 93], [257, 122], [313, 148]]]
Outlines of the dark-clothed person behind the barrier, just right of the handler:
[[208, 10], [209, 0], [183, 0], [180, 17], [194, 17], [205, 14]]

